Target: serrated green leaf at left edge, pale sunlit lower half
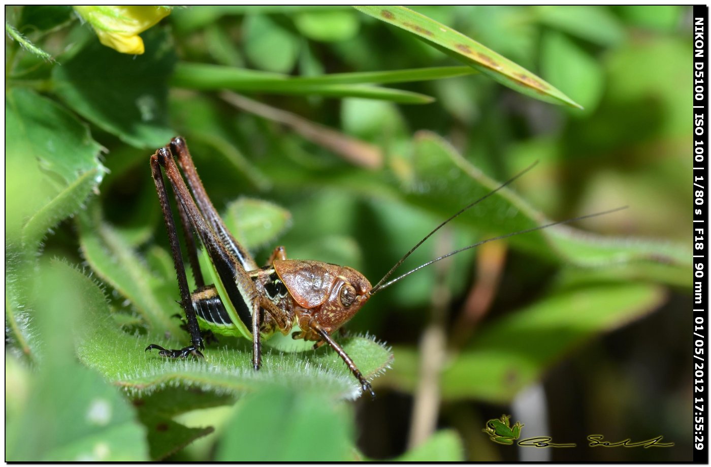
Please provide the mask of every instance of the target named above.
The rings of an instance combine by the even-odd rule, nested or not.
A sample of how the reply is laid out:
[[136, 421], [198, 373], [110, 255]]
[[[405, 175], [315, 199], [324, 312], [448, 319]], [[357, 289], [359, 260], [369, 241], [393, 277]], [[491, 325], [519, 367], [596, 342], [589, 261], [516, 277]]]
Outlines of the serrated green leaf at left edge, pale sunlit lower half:
[[70, 112], [31, 90], [5, 96], [6, 238], [34, 252], [48, 229], [80, 208], [101, 182], [100, 146]]

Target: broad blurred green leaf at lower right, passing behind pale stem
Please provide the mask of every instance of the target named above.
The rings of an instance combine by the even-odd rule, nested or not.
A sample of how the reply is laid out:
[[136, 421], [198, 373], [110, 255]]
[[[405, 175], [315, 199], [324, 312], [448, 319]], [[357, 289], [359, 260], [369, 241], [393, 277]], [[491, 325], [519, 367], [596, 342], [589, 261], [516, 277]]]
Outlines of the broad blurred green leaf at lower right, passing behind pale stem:
[[[483, 327], [442, 372], [442, 397], [508, 404], [574, 348], [651, 313], [663, 298], [658, 286], [636, 283], [559, 290]], [[385, 382], [412, 390], [418, 358], [414, 348], [396, 347]]]

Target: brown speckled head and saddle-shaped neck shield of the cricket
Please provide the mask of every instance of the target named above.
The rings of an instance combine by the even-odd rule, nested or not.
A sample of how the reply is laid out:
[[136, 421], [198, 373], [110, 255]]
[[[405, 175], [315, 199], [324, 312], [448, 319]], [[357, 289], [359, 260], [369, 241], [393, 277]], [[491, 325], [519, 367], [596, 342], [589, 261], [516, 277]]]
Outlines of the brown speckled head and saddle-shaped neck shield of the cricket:
[[370, 298], [370, 282], [347, 266], [321, 261], [277, 260], [274, 271], [301, 308], [312, 310], [319, 324], [333, 332], [353, 318]]

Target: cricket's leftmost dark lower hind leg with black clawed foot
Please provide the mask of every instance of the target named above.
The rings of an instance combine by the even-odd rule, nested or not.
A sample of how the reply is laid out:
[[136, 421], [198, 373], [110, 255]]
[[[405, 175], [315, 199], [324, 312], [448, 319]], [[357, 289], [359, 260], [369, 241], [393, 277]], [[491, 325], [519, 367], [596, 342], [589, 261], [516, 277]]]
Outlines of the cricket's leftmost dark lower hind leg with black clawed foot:
[[182, 349], [169, 350], [161, 347], [160, 345], [151, 344], [146, 347], [146, 351], [158, 349], [160, 350], [160, 355], [172, 358], [187, 357], [188, 355], [203, 357], [203, 354], [199, 349], [204, 349], [205, 344], [200, 332], [200, 326], [198, 325], [198, 318], [195, 314], [195, 308], [193, 308], [190, 288], [188, 288], [188, 278], [185, 273], [185, 266], [183, 265], [183, 255], [180, 250], [180, 242], [178, 241], [176, 224], [173, 220], [173, 213], [171, 212], [171, 206], [168, 201], [168, 191], [166, 190], [166, 185], [163, 181], [163, 174], [161, 174], [161, 167], [155, 154], [151, 157], [151, 173], [153, 174], [153, 179], [156, 184], [156, 192], [158, 193], [158, 199], [161, 203], [161, 210], [163, 211], [166, 231], [168, 231], [169, 243], [171, 244], [171, 254], [173, 256], [173, 265], [176, 268], [178, 289], [180, 290], [181, 295], [181, 306], [185, 311], [186, 325], [188, 327], [188, 332], [191, 335], [192, 345], [183, 347]]

